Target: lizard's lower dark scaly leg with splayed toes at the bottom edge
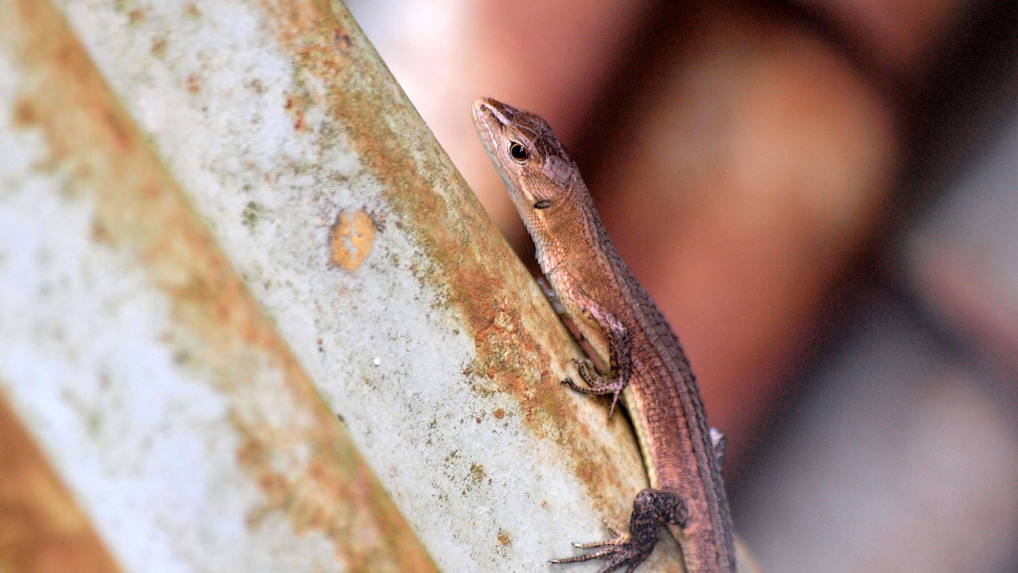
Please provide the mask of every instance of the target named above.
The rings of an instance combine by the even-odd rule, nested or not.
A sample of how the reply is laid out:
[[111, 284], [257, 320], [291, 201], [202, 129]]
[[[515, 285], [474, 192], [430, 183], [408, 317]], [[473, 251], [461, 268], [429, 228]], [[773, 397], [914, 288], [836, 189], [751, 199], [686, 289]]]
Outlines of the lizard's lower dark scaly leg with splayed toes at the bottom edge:
[[604, 559], [605, 565], [598, 570], [598, 573], [609, 573], [623, 565], [628, 565], [626, 573], [631, 573], [637, 565], [649, 557], [654, 546], [658, 544], [662, 524], [685, 528], [688, 519], [686, 505], [678, 493], [667, 489], [644, 489], [633, 500], [628, 534], [620, 535], [612, 531], [615, 537], [607, 541], [573, 543], [581, 550], [604, 549], [576, 557], [552, 559], [550, 563], [564, 564]]

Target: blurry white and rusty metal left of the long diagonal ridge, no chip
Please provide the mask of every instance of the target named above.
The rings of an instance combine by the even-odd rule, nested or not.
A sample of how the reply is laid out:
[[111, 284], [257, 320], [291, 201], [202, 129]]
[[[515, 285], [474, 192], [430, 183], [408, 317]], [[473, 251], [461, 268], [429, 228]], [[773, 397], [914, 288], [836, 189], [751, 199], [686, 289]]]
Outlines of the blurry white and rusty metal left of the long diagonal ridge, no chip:
[[0, 2], [0, 568], [435, 571], [48, 2]]

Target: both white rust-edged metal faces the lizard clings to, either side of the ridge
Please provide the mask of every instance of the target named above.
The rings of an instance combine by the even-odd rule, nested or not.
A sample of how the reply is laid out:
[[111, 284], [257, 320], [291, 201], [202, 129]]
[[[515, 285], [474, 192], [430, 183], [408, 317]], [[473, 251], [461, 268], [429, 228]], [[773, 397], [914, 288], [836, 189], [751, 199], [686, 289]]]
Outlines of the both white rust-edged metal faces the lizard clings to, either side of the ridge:
[[541, 570], [624, 524], [630, 428], [340, 3], [54, 4], [0, 2], [0, 388], [124, 570], [434, 569], [411, 530]]

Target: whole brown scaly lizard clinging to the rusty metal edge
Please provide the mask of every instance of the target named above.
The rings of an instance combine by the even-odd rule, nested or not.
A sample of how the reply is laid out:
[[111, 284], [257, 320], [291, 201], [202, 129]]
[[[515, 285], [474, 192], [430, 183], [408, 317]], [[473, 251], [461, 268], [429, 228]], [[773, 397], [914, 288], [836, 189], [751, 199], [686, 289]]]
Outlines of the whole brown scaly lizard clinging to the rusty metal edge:
[[695, 376], [678, 337], [609, 240], [593, 201], [547, 121], [491, 98], [473, 104], [473, 124], [519, 211], [553, 306], [606, 364], [576, 360], [586, 385], [575, 392], [619, 396], [636, 430], [651, 487], [636, 494], [629, 531], [573, 543], [598, 550], [553, 564], [604, 559], [598, 573], [654, 551], [661, 526], [679, 542], [689, 573], [735, 573], [735, 540], [721, 477], [724, 436], [710, 428]]

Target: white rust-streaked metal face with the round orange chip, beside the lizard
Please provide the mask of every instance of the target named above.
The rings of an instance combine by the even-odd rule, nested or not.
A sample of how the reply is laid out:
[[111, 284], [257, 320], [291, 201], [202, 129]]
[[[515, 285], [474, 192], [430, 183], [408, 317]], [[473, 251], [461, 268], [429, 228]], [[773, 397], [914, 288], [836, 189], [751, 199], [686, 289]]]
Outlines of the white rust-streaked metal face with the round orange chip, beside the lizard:
[[341, 4], [57, 5], [440, 568], [624, 523], [630, 429]]

